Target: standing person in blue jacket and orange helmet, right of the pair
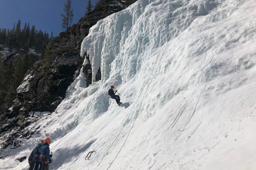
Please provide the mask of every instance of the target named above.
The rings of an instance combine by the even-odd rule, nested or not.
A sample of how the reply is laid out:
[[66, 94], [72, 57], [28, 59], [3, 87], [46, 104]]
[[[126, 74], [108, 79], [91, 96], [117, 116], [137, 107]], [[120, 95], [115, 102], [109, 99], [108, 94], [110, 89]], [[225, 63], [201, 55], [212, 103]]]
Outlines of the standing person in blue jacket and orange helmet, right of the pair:
[[42, 162], [42, 170], [49, 170], [49, 163], [52, 163], [50, 156], [50, 143], [51, 139], [49, 137], [44, 139], [44, 144], [41, 149], [40, 161]]

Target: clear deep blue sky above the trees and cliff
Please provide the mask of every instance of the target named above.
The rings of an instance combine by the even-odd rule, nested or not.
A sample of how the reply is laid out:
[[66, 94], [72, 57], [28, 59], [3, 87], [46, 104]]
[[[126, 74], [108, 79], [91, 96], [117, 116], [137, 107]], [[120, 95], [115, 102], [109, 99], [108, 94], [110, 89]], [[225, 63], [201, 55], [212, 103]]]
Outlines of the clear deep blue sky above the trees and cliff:
[[[58, 36], [60, 32], [65, 31], [61, 27], [62, 18], [60, 14], [64, 14], [64, 4], [67, 0], [0, 0], [0, 28], [12, 29], [13, 24], [21, 21], [21, 28], [25, 23], [30, 23], [53, 36]], [[95, 6], [97, 0], [91, 0]], [[71, 7], [73, 9], [73, 24], [76, 24], [81, 17], [84, 16], [88, 0], [72, 0]]]

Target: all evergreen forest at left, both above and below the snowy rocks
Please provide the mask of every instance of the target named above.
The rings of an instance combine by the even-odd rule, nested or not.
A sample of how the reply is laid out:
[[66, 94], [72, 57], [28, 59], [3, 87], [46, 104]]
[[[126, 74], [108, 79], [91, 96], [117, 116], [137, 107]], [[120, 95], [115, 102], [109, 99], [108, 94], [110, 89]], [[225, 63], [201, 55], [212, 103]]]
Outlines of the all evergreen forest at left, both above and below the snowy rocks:
[[23, 81], [27, 70], [38, 59], [45, 59], [46, 47], [53, 38], [55, 38], [53, 32], [49, 36], [46, 31], [44, 33], [41, 29], [37, 31], [34, 25], [30, 28], [29, 23], [25, 23], [21, 29], [20, 20], [17, 24], [14, 23], [11, 30], [0, 28], [0, 44], [15, 48], [33, 48], [41, 52], [40, 58], [33, 54], [25, 54], [25, 56], [19, 56], [15, 62], [11, 59], [6, 64], [3, 62], [3, 54], [0, 52], [0, 115], [14, 104], [17, 95], [16, 89]]

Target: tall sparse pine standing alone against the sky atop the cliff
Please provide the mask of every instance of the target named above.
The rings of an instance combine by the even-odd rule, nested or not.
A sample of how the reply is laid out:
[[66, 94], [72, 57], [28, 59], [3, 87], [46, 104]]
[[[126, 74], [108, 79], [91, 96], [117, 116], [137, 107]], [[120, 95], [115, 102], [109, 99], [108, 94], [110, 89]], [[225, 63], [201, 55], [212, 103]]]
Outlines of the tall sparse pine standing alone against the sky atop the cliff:
[[71, 26], [71, 23], [73, 22], [73, 9], [71, 9], [71, 0], [67, 0], [67, 3], [64, 4], [64, 11], [65, 11], [65, 15], [61, 14], [60, 16], [62, 17], [62, 28], [66, 28], [66, 33], [68, 33], [68, 26]]

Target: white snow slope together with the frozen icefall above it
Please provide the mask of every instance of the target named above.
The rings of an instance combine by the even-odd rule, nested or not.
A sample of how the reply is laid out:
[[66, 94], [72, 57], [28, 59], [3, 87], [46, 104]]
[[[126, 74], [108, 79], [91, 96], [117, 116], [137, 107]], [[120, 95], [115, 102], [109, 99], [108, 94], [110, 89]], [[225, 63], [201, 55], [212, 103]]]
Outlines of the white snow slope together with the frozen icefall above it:
[[17, 158], [46, 137], [54, 170], [256, 169], [255, 9], [255, 0], [138, 0], [99, 21], [81, 55], [101, 81], [85, 88], [81, 73], [54, 113], [38, 114], [36, 133], [2, 152], [0, 169], [28, 169]]

